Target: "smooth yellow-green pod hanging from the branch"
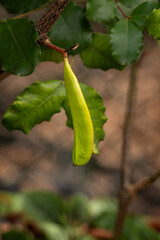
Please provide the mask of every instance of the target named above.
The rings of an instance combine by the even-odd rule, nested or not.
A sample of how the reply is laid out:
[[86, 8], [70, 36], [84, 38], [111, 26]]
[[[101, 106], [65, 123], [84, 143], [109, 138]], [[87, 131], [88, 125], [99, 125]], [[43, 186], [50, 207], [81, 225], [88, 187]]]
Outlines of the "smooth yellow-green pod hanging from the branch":
[[74, 128], [72, 158], [75, 166], [84, 165], [90, 160], [93, 151], [93, 124], [83, 93], [70, 67], [68, 58], [64, 58], [64, 62], [66, 95], [71, 109]]

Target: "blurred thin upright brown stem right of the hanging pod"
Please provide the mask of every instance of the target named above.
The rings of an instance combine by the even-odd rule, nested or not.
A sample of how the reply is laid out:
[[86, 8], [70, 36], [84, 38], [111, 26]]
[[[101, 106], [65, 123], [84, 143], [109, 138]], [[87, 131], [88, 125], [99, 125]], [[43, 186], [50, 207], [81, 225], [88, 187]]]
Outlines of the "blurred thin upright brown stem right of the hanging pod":
[[115, 225], [115, 238], [114, 238], [115, 240], [120, 240], [121, 238], [124, 221], [132, 199], [130, 195], [130, 187], [127, 180], [126, 162], [129, 151], [132, 121], [136, 102], [137, 71], [139, 69], [142, 58], [143, 55], [141, 55], [140, 59], [136, 63], [131, 65], [126, 116], [124, 120], [124, 129], [122, 136], [123, 142], [121, 150], [120, 194], [119, 194], [119, 208]]

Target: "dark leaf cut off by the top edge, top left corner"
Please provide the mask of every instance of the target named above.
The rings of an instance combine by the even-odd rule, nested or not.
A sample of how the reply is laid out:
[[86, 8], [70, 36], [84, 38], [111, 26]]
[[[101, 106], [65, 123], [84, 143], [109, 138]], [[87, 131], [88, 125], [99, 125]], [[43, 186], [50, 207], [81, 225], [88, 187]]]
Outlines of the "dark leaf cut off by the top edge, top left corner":
[[12, 13], [25, 13], [39, 8], [49, 0], [0, 0], [0, 3]]

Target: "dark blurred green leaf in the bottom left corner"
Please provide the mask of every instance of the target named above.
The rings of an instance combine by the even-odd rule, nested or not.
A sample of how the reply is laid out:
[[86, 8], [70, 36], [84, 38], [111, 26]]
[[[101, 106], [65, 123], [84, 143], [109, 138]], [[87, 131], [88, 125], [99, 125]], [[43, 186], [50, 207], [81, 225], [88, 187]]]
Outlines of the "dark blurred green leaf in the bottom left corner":
[[2, 234], [2, 240], [33, 240], [31, 234], [12, 230]]

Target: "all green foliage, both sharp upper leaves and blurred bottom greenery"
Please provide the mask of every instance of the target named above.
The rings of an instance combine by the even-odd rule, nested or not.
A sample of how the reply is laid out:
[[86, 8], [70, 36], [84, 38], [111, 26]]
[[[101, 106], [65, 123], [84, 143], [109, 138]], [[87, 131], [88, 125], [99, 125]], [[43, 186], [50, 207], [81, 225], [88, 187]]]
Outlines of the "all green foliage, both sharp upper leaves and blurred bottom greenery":
[[[0, 3], [9, 12], [20, 14], [36, 11], [49, 1], [0, 0]], [[122, 70], [140, 56], [144, 31], [155, 39], [160, 38], [159, 7], [158, 0], [88, 0], [84, 8], [71, 1], [48, 36], [52, 43], [65, 49], [79, 43], [79, 48], [69, 53], [79, 54], [90, 69]], [[40, 61], [63, 61], [59, 53], [39, 45], [35, 23], [23, 16], [0, 21], [2, 70], [27, 76]], [[94, 32], [93, 22], [101, 24], [106, 31]], [[104, 139], [105, 107], [95, 89], [80, 86], [94, 127], [93, 152], [98, 153], [98, 144]], [[21, 130], [28, 134], [36, 124], [49, 121], [62, 108], [67, 115], [67, 126], [73, 128], [63, 81], [36, 82], [16, 98], [2, 123], [9, 131]], [[92, 228], [113, 231], [116, 211], [116, 202], [108, 199], [89, 201], [78, 195], [64, 201], [52, 193], [1, 193], [0, 212], [3, 221], [11, 223], [9, 231], [2, 234], [2, 240], [94, 240]], [[83, 230], [82, 222], [87, 223], [87, 231]], [[143, 218], [129, 217], [122, 236], [122, 240], [125, 239], [159, 240], [160, 235], [148, 228]]]

